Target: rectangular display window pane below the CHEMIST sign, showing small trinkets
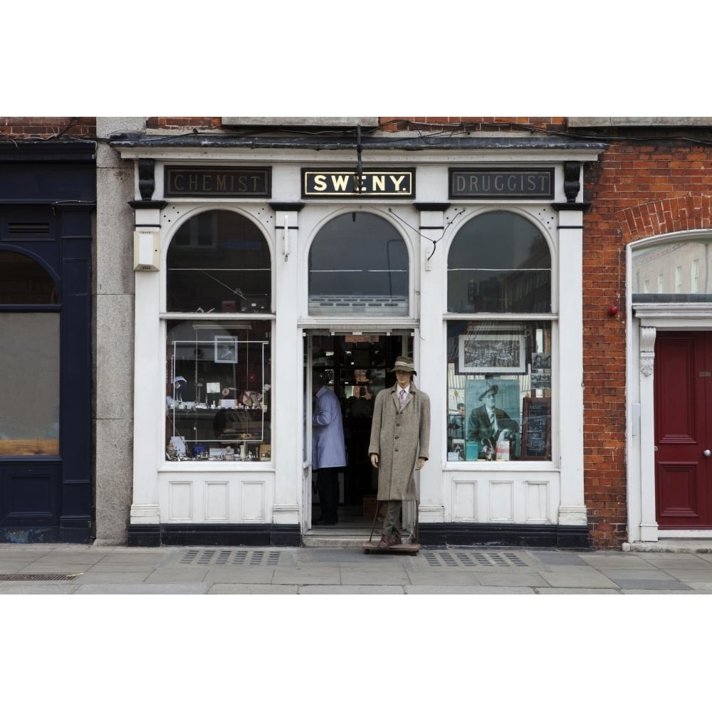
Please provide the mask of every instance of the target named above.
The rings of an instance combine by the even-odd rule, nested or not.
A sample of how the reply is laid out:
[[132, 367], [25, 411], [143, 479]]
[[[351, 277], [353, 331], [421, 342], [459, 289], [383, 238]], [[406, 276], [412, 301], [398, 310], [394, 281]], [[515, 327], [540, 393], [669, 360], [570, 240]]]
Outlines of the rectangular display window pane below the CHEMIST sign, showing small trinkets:
[[167, 458], [271, 459], [271, 322], [167, 328]]

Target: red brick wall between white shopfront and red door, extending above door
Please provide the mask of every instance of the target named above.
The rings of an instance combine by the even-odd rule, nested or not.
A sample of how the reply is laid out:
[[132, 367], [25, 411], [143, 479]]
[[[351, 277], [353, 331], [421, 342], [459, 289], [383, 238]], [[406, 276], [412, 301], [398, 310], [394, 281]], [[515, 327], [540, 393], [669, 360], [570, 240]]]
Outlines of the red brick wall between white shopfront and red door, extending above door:
[[608, 549], [620, 547], [627, 529], [625, 245], [712, 226], [712, 147], [612, 142], [585, 168], [584, 195], [592, 204], [583, 247], [585, 496], [592, 542]]

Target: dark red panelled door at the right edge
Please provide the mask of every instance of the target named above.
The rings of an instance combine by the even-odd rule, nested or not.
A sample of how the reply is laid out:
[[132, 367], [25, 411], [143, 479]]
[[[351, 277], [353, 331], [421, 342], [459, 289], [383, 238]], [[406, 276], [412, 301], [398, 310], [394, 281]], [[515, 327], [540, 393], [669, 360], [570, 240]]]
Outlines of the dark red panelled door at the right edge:
[[661, 529], [712, 528], [712, 332], [655, 339], [655, 501]]

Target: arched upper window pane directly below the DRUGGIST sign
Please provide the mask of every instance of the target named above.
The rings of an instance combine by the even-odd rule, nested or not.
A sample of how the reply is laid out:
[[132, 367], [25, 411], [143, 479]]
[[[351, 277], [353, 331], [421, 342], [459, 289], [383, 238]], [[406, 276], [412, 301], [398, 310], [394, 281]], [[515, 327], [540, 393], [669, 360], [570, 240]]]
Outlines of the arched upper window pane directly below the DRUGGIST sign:
[[551, 311], [551, 256], [528, 220], [497, 211], [471, 219], [448, 253], [448, 311]]

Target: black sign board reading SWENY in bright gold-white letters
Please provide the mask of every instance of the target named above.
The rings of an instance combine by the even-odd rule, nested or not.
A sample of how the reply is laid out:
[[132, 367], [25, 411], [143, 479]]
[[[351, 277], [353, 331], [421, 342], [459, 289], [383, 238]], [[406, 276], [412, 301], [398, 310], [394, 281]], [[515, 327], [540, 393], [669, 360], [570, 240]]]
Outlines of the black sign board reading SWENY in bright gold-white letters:
[[302, 169], [303, 198], [413, 198], [415, 169]]

